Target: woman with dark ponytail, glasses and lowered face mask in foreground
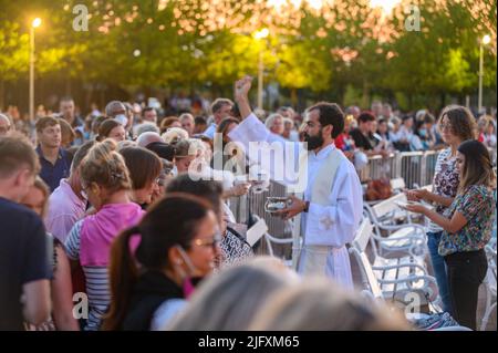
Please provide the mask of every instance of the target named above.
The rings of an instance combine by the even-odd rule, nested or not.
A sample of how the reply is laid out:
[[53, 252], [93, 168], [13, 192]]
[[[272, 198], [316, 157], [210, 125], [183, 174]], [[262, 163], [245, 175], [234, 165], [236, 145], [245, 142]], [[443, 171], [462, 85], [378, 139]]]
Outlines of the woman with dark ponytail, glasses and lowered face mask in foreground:
[[[134, 236], [139, 245], [133, 255]], [[172, 193], [154, 204], [112, 247], [112, 301], [103, 329], [162, 328], [212, 271], [219, 241], [217, 217], [207, 200]]]

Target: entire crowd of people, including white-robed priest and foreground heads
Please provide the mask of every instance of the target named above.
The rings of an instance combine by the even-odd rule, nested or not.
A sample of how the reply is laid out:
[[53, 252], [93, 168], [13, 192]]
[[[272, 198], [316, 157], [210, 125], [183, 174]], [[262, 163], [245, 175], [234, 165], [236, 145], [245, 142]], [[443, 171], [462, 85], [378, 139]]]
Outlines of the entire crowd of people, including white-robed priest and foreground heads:
[[[476, 122], [448, 106], [436, 121], [381, 102], [344, 113], [322, 102], [267, 116], [250, 107], [250, 77], [236, 87], [235, 102], [215, 100], [210, 116], [204, 103], [164, 116], [112, 101], [83, 118], [71, 97], [34, 121], [12, 107], [0, 114], [0, 330], [409, 330], [398, 312], [352, 290], [345, 245], [363, 211], [354, 159], [433, 148], [446, 148], [433, 191], [407, 194], [437, 207], [411, 210], [432, 221], [445, 311], [475, 329], [496, 208], [486, 148], [496, 148], [496, 114]], [[308, 143], [307, 190], [281, 211], [301, 219], [295, 271], [256, 256], [240, 230], [229, 203], [252, 184], [237, 165], [212, 163], [237, 155], [218, 150], [218, 137], [224, 149], [234, 141]], [[87, 315], [75, 314], [74, 293], [85, 293]]]

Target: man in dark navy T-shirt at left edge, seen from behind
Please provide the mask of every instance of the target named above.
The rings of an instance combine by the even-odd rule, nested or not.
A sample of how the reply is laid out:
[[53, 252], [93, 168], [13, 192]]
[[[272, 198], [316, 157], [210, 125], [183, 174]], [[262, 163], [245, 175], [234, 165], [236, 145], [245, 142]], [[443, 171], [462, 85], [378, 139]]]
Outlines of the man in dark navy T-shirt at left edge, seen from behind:
[[0, 138], [0, 331], [23, 330], [50, 315], [52, 267], [42, 219], [19, 205], [39, 170], [30, 141]]

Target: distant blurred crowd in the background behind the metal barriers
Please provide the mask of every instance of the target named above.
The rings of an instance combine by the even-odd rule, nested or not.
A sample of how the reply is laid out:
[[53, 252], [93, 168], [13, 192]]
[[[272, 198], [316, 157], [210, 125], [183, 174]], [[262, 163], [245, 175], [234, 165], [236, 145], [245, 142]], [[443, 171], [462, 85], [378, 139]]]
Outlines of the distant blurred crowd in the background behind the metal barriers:
[[[115, 102], [118, 104], [117, 102]], [[168, 107], [151, 107], [145, 103], [123, 102], [123, 106], [107, 106], [101, 113], [96, 104], [92, 104], [86, 116], [71, 97], [63, 97], [60, 102], [59, 113], [46, 110], [40, 105], [37, 110], [35, 121], [43, 116], [60, 118], [62, 143], [64, 148], [80, 146], [85, 141], [112, 137], [116, 141], [136, 138], [145, 131], [155, 131], [149, 123], [158, 127], [163, 134], [170, 127], [179, 127], [188, 136], [203, 135], [214, 139], [218, 125], [226, 117], [240, 117], [238, 106], [229, 98], [218, 98], [209, 105], [208, 101], [199, 96], [189, 98], [181, 95], [173, 96], [167, 101]], [[108, 115], [107, 108], [114, 110]], [[172, 114], [172, 115], [168, 115]], [[274, 134], [289, 141], [302, 141], [303, 115], [290, 106], [282, 106], [274, 113], [257, 111], [257, 116]], [[362, 111], [352, 105], [344, 110], [345, 125], [343, 133], [335, 138], [335, 145], [342, 149], [350, 159], [354, 160], [354, 152], [363, 152], [367, 156], [386, 156], [392, 152], [429, 150], [444, 148], [445, 144], [435, 114], [422, 108], [415, 112], [393, 110], [390, 103], [374, 101], [370, 110]], [[488, 148], [497, 146], [496, 112], [491, 115], [475, 114], [477, 118], [478, 141]], [[101, 127], [105, 117], [117, 117]], [[31, 136], [34, 142], [34, 123], [27, 115], [21, 116], [15, 105], [10, 105], [0, 117], [0, 133], [8, 128], [18, 129]], [[116, 125], [116, 122], [122, 124]], [[123, 124], [126, 122], [126, 124]], [[69, 124], [68, 124], [69, 123]], [[227, 122], [228, 123], [228, 122]], [[227, 124], [226, 123], [226, 124]], [[145, 124], [145, 125], [144, 125]], [[123, 128], [124, 127], [124, 132]], [[225, 124], [224, 124], [224, 127]]]

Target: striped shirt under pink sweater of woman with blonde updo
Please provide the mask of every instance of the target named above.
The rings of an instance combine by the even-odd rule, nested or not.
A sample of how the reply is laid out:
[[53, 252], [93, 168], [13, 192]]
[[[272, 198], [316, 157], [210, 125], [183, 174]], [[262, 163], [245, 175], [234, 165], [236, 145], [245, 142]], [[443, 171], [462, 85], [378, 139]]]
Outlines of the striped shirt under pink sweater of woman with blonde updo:
[[[83, 220], [79, 220], [71, 229], [65, 240], [65, 252], [71, 260], [80, 259], [80, 240]], [[85, 331], [97, 331], [101, 319], [111, 302], [107, 267], [83, 266], [86, 279], [86, 294], [89, 295], [89, 320]]]

